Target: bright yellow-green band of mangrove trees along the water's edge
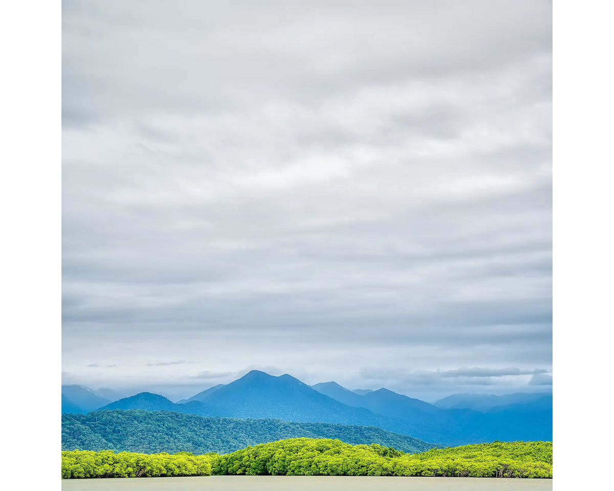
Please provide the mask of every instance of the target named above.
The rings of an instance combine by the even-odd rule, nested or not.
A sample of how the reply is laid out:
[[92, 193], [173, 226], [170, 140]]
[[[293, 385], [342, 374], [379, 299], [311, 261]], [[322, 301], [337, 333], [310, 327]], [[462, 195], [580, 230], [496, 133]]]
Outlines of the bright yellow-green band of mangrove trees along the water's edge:
[[111, 450], [61, 452], [64, 479], [76, 477], [208, 476], [457, 476], [554, 477], [551, 442], [494, 442], [404, 454], [378, 444], [352, 446], [337, 439], [291, 438], [194, 456]]

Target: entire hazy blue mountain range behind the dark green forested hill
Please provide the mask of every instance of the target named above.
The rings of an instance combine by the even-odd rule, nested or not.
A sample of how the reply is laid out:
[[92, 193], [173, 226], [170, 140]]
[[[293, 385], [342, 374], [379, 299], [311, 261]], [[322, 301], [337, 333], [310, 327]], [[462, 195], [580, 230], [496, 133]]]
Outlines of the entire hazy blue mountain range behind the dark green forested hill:
[[60, 389], [63, 412], [142, 409], [373, 426], [445, 445], [553, 439], [553, 395], [454, 395], [429, 404], [388, 389], [352, 391], [336, 382], [310, 387], [288, 374], [274, 377], [257, 370], [177, 403], [148, 392], [111, 403], [84, 387]]

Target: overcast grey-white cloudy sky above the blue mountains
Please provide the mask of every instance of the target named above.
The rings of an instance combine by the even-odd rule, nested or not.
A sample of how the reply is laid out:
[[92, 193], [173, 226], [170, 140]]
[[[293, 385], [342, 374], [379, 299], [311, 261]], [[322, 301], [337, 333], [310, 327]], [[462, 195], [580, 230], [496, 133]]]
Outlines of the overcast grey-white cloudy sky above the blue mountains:
[[61, 383], [553, 390], [553, 11], [61, 1]]

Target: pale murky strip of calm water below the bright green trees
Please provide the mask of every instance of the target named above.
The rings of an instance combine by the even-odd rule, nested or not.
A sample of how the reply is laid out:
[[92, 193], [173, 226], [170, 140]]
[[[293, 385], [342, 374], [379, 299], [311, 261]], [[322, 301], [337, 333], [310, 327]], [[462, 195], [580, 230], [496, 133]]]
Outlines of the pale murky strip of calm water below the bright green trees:
[[550, 491], [553, 489], [554, 479], [495, 479], [494, 477], [208, 476], [60, 480], [60, 490], [64, 491]]

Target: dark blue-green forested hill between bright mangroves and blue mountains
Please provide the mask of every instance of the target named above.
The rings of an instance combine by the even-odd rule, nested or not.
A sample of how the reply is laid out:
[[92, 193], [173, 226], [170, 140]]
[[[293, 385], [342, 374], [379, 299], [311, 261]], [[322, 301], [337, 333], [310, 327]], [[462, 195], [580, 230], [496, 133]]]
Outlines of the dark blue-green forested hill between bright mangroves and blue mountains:
[[63, 450], [228, 453], [249, 445], [299, 437], [339, 439], [354, 445], [376, 443], [412, 454], [441, 447], [372, 426], [241, 420], [170, 411], [115, 409], [64, 413], [60, 416], [60, 428]]

